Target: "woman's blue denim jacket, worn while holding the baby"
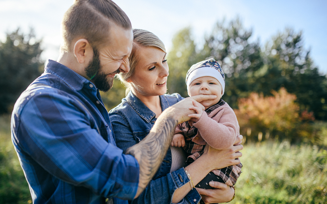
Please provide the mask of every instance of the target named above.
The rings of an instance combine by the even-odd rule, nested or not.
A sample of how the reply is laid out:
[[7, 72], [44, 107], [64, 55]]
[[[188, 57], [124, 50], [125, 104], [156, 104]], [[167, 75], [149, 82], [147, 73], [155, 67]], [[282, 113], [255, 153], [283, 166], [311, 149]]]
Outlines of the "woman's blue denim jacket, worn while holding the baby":
[[[181, 101], [181, 95], [164, 94], [160, 97], [161, 109]], [[129, 147], [139, 143], [150, 132], [157, 118], [141, 100], [132, 92], [129, 92], [122, 102], [109, 112], [112, 122], [117, 147], [125, 152]], [[165, 158], [153, 179], [144, 192], [132, 201], [145, 204], [171, 203], [172, 196], [177, 188], [180, 188], [189, 179], [183, 168], [170, 172], [171, 151], [168, 149]], [[180, 203], [196, 204], [201, 199], [196, 189], [192, 189]]]

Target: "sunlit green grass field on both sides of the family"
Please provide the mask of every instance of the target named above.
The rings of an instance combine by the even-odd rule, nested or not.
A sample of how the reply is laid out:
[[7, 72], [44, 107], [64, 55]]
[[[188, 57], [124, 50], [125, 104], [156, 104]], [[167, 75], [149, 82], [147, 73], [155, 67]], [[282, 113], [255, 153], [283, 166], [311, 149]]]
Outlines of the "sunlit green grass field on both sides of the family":
[[[267, 141], [244, 144], [242, 153], [242, 174], [231, 204], [327, 203], [326, 150]], [[8, 115], [0, 117], [0, 203], [31, 203], [11, 143]]]

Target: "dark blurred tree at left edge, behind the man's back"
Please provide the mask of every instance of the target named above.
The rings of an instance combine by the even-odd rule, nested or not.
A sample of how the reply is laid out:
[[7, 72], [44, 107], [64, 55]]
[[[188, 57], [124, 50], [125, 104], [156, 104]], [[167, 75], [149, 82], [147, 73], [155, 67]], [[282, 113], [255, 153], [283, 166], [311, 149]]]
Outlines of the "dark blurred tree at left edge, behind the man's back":
[[41, 74], [41, 40], [30, 29], [29, 34], [19, 28], [7, 33], [6, 42], [0, 42], [0, 114], [11, 108], [26, 87]]

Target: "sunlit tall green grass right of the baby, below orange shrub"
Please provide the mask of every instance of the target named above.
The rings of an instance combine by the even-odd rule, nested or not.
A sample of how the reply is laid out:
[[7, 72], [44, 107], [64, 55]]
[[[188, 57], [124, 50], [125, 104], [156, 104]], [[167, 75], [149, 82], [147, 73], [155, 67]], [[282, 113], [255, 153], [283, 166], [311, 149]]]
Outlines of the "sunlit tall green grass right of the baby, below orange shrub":
[[327, 151], [289, 142], [247, 144], [234, 204], [327, 203]]

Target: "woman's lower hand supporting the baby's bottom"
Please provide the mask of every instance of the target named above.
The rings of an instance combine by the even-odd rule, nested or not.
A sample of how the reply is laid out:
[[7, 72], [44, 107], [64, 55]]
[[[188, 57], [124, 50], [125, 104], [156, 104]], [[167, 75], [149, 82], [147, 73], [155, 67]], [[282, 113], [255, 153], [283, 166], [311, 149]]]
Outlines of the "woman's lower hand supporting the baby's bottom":
[[234, 189], [225, 183], [210, 181], [209, 185], [214, 189], [196, 188], [204, 203], [225, 203], [232, 200]]

